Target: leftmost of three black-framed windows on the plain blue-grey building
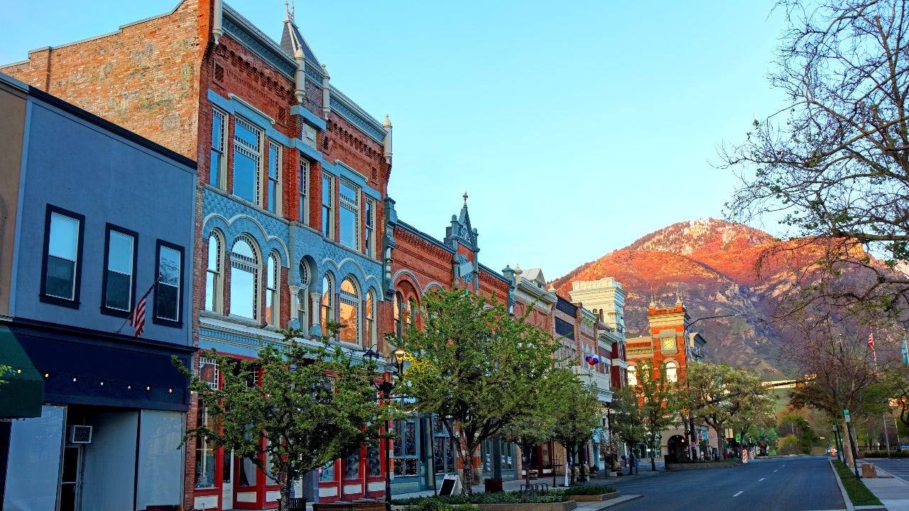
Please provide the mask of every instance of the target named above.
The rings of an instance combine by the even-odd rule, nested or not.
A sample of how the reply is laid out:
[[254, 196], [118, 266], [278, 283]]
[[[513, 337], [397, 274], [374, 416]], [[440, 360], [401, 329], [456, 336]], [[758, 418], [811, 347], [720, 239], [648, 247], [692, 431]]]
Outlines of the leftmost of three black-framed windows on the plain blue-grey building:
[[47, 205], [41, 301], [79, 307], [85, 216]]

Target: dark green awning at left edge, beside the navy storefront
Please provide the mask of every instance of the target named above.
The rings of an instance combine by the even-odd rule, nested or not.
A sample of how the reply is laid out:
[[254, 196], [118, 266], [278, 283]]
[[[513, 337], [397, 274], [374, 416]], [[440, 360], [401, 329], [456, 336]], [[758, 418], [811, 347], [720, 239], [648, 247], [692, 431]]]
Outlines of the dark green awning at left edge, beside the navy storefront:
[[41, 416], [45, 379], [32, 364], [15, 334], [0, 326], [0, 418]]

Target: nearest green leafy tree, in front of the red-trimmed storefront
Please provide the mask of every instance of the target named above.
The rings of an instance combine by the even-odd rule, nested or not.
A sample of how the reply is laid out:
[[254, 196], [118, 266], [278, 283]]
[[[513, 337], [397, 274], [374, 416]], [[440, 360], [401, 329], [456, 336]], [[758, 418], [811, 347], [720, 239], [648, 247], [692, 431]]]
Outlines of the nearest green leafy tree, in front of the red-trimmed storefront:
[[295, 480], [346, 451], [374, 444], [385, 424], [385, 407], [375, 399], [375, 364], [355, 362], [330, 346], [338, 327], [330, 324], [323, 343], [315, 345], [299, 340], [304, 332], [285, 330], [283, 342], [265, 344], [255, 360], [206, 352], [215, 360], [220, 386], [174, 359], [208, 417], [185, 438], [250, 460], [280, 486], [282, 510]]

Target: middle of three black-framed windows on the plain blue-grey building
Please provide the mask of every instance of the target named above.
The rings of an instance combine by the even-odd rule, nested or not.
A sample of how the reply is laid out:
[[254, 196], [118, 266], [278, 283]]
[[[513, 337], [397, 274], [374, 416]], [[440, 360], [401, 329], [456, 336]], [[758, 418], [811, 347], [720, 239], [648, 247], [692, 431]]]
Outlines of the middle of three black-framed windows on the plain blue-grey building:
[[133, 308], [135, 240], [138, 235], [112, 224], [107, 224], [106, 229], [101, 312], [126, 317]]

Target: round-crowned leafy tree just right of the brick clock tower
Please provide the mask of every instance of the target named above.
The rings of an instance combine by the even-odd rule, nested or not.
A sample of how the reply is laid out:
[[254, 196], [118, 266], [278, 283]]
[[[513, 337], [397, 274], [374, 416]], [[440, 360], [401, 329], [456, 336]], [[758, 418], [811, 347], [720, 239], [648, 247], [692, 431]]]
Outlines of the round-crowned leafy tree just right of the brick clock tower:
[[714, 428], [719, 454], [724, 453], [724, 429], [747, 430], [749, 421], [761, 424], [773, 418], [773, 392], [754, 371], [725, 364], [688, 366], [680, 400], [698, 420]]

